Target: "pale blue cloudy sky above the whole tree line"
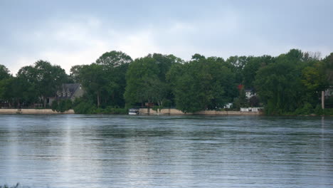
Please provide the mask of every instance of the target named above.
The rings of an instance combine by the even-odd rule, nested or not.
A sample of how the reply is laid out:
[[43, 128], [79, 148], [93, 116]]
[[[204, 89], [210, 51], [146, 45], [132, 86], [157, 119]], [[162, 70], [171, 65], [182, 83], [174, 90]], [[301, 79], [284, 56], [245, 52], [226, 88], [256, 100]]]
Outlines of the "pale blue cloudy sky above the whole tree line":
[[0, 0], [0, 64], [90, 64], [107, 51], [278, 56], [333, 52], [333, 1]]

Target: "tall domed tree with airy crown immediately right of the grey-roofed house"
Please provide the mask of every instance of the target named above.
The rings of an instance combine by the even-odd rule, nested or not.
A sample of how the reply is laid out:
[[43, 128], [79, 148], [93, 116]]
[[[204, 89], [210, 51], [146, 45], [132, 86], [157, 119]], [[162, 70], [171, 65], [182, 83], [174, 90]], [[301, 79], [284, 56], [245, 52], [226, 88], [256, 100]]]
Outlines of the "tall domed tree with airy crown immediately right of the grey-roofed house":
[[85, 88], [86, 100], [95, 101], [97, 108], [124, 106], [125, 74], [132, 58], [121, 51], [103, 53], [89, 66], [73, 66], [70, 77]]

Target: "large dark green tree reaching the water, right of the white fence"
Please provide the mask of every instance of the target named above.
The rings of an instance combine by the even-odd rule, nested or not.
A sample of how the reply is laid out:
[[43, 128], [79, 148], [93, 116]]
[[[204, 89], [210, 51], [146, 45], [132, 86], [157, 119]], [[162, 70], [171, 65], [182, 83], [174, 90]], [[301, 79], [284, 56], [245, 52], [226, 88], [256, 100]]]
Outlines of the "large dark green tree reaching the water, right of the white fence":
[[260, 68], [255, 88], [268, 114], [292, 112], [303, 105], [302, 62], [299, 51], [277, 57], [275, 63]]

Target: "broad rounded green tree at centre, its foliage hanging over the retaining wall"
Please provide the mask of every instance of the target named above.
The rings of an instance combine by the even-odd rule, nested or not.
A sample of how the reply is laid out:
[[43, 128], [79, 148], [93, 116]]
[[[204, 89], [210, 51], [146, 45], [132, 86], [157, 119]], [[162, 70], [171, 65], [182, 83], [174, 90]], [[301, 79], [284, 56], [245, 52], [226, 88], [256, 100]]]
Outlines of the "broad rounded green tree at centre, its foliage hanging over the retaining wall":
[[176, 108], [184, 113], [223, 108], [236, 93], [234, 74], [221, 58], [196, 56], [184, 65], [175, 64], [168, 73]]

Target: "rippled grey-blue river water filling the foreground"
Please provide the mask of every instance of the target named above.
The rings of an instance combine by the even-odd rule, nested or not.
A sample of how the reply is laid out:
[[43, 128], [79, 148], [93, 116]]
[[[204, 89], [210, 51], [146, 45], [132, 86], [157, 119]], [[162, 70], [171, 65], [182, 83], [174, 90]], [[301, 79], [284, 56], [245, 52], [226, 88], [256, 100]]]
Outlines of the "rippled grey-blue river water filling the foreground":
[[0, 115], [0, 154], [30, 187], [333, 187], [333, 119]]

